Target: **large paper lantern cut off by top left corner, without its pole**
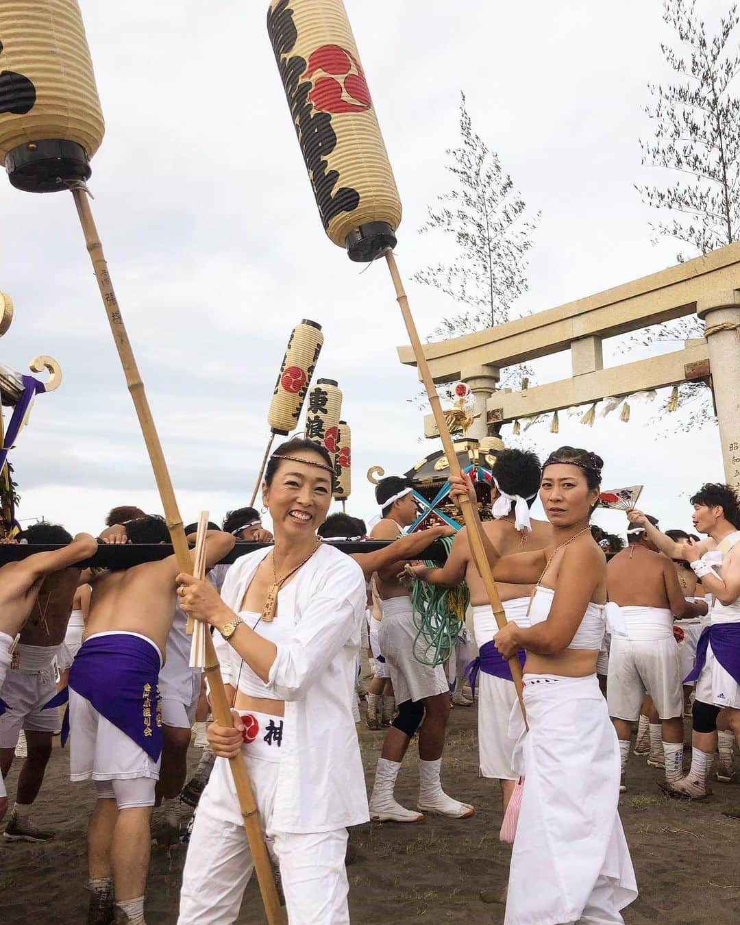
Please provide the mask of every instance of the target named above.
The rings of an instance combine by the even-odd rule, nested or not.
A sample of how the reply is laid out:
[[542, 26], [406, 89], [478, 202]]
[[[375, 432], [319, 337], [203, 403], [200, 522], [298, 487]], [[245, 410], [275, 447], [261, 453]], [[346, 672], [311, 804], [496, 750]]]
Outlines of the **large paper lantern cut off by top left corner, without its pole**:
[[105, 126], [77, 0], [0, 3], [0, 155], [13, 186], [88, 179]]

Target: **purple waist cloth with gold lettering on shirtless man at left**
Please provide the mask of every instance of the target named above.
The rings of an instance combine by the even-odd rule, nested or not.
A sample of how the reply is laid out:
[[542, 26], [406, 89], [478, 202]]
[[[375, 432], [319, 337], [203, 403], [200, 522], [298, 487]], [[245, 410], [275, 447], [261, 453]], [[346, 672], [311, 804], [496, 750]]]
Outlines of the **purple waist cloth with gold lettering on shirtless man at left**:
[[162, 753], [159, 668], [152, 643], [140, 636], [114, 633], [83, 642], [69, 669], [69, 687], [153, 761]]

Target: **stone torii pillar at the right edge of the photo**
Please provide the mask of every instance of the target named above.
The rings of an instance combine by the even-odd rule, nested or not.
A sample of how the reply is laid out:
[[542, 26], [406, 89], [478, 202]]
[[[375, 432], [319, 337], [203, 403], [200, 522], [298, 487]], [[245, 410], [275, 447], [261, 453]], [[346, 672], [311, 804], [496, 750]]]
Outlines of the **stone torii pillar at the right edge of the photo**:
[[740, 489], [740, 290], [712, 292], [698, 299], [697, 315], [706, 325], [724, 477], [728, 485]]

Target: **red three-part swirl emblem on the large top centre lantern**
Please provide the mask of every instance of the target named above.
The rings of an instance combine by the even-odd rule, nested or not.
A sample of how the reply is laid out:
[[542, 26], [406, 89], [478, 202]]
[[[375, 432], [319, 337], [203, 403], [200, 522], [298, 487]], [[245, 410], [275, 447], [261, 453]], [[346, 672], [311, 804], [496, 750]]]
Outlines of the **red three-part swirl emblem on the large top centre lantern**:
[[[314, 78], [317, 71], [323, 73]], [[301, 79], [312, 81], [308, 96], [320, 112], [361, 113], [373, 105], [363, 66], [339, 45], [317, 48]]]

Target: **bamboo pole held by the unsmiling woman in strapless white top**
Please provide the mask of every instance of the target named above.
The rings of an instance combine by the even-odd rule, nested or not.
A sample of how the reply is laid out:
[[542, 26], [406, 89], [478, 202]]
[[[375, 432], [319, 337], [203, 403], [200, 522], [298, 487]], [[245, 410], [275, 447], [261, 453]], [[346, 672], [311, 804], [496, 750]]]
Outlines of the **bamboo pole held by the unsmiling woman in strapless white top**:
[[[399, 268], [396, 265], [396, 258], [390, 249], [388, 249], [385, 254], [386, 261], [388, 262], [388, 270], [390, 271], [390, 277], [393, 280], [393, 286], [396, 290], [396, 299], [398, 300], [399, 306], [401, 307], [403, 323], [406, 326], [406, 331], [408, 332], [409, 340], [411, 341], [413, 355], [416, 358], [416, 365], [419, 367], [419, 373], [422, 377], [422, 381], [424, 382], [426, 397], [428, 398], [429, 404], [432, 407], [432, 413], [434, 414], [435, 423], [437, 424], [437, 429], [439, 431], [439, 437], [442, 440], [442, 446], [445, 450], [445, 455], [447, 456], [450, 473], [452, 475], [462, 475], [462, 469], [460, 467], [460, 462], [458, 462], [457, 459], [457, 453], [455, 452], [454, 444], [450, 436], [450, 430], [448, 429], [447, 422], [445, 421], [444, 414], [442, 413], [442, 404], [439, 401], [437, 389], [434, 386], [434, 380], [432, 379], [432, 374], [429, 370], [429, 364], [426, 363], [424, 348], [422, 347], [422, 342], [419, 339], [419, 333], [416, 330], [416, 325], [413, 321], [413, 315], [411, 314], [411, 309], [409, 308], [409, 300], [405, 291], [403, 290], [403, 283], [401, 281]], [[486, 586], [486, 593], [491, 604], [493, 615], [496, 618], [496, 623], [498, 624], [499, 629], [503, 629], [507, 623], [506, 614], [504, 613], [503, 607], [501, 606], [499, 591], [496, 587], [496, 582], [493, 580], [493, 573], [491, 572], [490, 562], [488, 561], [486, 550], [483, 547], [483, 540], [481, 538], [481, 531], [483, 527], [480, 523], [480, 517], [478, 516], [475, 505], [471, 503], [467, 496], [463, 497], [461, 501], [462, 517], [468, 530], [470, 551], [473, 553], [475, 565], [477, 566], [478, 572], [483, 579], [484, 586]], [[522, 695], [522, 666], [519, 664], [519, 659], [516, 655], [513, 655], [509, 660], [509, 668], [511, 669], [514, 686], [516, 687], [516, 696], [519, 697], [519, 705], [522, 708], [524, 722], [526, 722], [524, 697]]]

